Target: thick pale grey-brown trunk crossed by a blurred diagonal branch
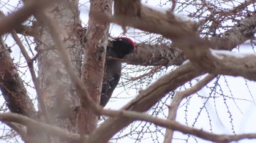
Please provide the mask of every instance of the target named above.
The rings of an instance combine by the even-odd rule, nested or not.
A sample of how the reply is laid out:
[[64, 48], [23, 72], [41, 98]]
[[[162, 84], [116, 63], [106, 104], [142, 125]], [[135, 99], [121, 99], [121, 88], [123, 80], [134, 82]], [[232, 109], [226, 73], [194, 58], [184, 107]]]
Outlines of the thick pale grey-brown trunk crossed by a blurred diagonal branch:
[[[80, 76], [82, 50], [80, 40], [75, 32], [75, 26], [80, 23], [78, 12], [78, 1], [59, 1], [47, 10], [54, 18], [54, 22], [61, 28], [60, 36], [64, 41], [65, 48], [69, 52], [74, 72]], [[43, 21], [42, 21], [43, 22]], [[53, 40], [50, 38], [48, 28], [37, 23], [39, 39], [37, 42], [39, 57], [39, 83], [42, 90], [42, 98], [45, 101], [50, 120], [54, 125], [66, 128], [75, 132], [76, 107], [79, 106], [79, 99], [64, 69], [59, 53], [56, 50]]]

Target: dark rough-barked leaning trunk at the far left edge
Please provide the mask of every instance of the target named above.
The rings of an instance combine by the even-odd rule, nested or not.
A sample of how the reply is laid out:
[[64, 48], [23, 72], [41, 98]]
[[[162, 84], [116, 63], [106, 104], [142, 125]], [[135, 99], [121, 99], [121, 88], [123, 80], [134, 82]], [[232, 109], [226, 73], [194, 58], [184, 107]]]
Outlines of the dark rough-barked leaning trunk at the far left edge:
[[26, 93], [15, 64], [2, 39], [0, 44], [0, 89], [10, 112], [36, 118], [37, 112]]

